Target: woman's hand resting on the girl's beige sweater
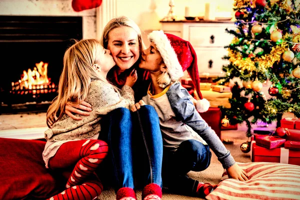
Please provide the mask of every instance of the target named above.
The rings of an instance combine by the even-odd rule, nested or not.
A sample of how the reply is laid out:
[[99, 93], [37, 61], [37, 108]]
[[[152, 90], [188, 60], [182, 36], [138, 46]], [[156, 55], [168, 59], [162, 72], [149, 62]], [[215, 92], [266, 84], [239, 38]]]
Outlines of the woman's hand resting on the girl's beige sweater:
[[72, 102], [67, 102], [64, 108], [64, 112], [74, 120], [82, 119], [82, 117], [75, 116], [74, 114], [88, 116], [89, 115], [88, 112], [90, 111], [91, 111], [91, 104], [85, 101], [82, 101], [81, 104], [74, 104]]

